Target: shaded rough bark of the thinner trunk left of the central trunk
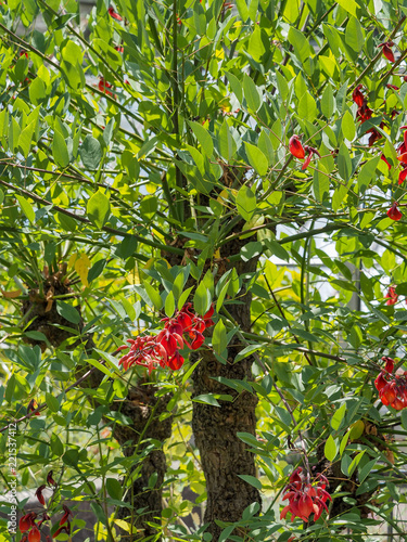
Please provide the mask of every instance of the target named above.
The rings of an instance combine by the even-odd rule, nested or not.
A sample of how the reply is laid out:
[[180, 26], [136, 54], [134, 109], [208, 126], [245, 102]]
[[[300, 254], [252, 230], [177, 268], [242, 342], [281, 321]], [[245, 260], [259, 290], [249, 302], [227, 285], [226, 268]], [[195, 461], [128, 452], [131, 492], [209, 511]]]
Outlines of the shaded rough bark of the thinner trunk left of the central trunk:
[[[126, 456], [131, 456], [136, 450], [140, 456], [149, 446], [149, 439], [158, 440], [164, 444], [164, 441], [171, 435], [171, 416], [160, 421], [160, 415], [166, 412], [171, 396], [167, 393], [157, 398], [154, 395], [154, 386], [141, 384], [130, 388], [124, 401], [111, 405], [112, 410], [119, 410], [132, 421], [127, 426], [115, 425], [113, 430], [113, 436], [122, 446]], [[133, 468], [138, 465], [139, 460]], [[166, 462], [162, 449], [157, 448], [141, 459], [141, 470], [124, 499], [129, 506], [119, 508], [117, 514], [120, 519], [130, 522], [138, 532], [129, 534], [122, 531], [123, 541], [161, 540], [156, 538], [157, 530], [149, 522], [160, 524], [165, 472]], [[154, 487], [150, 488], [149, 480], [154, 474], [156, 474], [156, 480]]]

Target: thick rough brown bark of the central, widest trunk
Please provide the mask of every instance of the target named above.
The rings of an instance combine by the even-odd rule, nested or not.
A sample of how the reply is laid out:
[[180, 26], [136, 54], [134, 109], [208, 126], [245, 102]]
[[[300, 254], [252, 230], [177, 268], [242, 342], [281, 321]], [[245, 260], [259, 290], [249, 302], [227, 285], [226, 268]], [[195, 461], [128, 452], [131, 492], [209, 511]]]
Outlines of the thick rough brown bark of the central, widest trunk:
[[[225, 247], [225, 256], [239, 254], [244, 242], [234, 242]], [[238, 261], [234, 267], [239, 275], [253, 273], [257, 259]], [[228, 263], [230, 269], [232, 264]], [[251, 325], [251, 294], [243, 291], [239, 296], [239, 305], [230, 305], [229, 312], [240, 325], [249, 331]], [[237, 436], [238, 433], [255, 435], [255, 408], [257, 397], [246, 391], [238, 393], [224, 386], [213, 377], [222, 376], [231, 379], [251, 380], [252, 358], [234, 363], [234, 358], [243, 348], [239, 337], [234, 337], [228, 346], [228, 358], [225, 364], [216, 360], [211, 351], [202, 353], [202, 361], [195, 369], [193, 393], [227, 393], [234, 400], [219, 401], [220, 409], [202, 403], [193, 403], [192, 428], [196, 446], [201, 453], [202, 468], [206, 479], [207, 506], [204, 521], [209, 522], [207, 532], [217, 541], [222, 530], [216, 524], [238, 521], [244, 508], [253, 502], [260, 503], [257, 489], [243, 481], [238, 475], [256, 476], [254, 455], [247, 446]]]

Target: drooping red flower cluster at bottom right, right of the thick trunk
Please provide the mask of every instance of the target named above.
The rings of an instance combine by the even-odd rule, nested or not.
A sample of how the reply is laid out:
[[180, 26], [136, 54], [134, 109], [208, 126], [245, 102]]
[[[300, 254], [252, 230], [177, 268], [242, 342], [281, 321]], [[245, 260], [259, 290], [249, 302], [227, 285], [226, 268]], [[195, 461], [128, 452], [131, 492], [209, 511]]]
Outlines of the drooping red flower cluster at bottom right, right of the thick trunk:
[[290, 512], [292, 514], [291, 521], [294, 521], [295, 517], [308, 521], [311, 514], [314, 514], [314, 521], [316, 521], [323, 509], [328, 512], [326, 502], [328, 499], [332, 501], [332, 498], [325, 489], [329, 486], [327, 478], [318, 474], [316, 485], [313, 486], [302, 480], [300, 476], [302, 470], [298, 467], [290, 476], [290, 483], [284, 489], [287, 493], [282, 498], [283, 501], [288, 499], [289, 504], [281, 511], [280, 519], [285, 519], [287, 514]]

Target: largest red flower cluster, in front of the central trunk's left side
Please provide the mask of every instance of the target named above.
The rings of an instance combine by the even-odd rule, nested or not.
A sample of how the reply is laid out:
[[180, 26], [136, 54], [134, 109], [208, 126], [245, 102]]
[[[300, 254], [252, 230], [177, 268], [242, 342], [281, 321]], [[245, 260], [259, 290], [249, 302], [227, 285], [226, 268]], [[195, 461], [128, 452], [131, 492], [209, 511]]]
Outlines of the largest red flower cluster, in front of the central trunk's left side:
[[165, 318], [164, 330], [156, 336], [145, 335], [127, 339], [130, 347], [123, 345], [119, 350], [130, 348], [130, 351], [119, 360], [118, 364], [123, 365], [125, 371], [132, 365], [142, 365], [149, 367], [149, 373], [156, 365], [167, 366], [173, 371], [180, 369], [185, 360], [178, 349], [186, 345], [191, 350], [196, 350], [205, 340], [204, 330], [214, 325], [213, 307], [203, 318], [194, 314], [191, 308], [191, 304], [186, 304], [174, 318]]

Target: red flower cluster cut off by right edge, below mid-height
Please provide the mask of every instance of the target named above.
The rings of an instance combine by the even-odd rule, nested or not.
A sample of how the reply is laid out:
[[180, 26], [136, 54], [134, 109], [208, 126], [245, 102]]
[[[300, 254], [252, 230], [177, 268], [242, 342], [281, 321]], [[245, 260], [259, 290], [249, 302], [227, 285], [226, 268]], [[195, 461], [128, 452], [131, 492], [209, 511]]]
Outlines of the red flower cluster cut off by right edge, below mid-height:
[[374, 380], [376, 389], [379, 391], [380, 400], [386, 406], [402, 410], [407, 408], [407, 371], [403, 374], [393, 374], [394, 360], [382, 358], [385, 361], [384, 369]]

